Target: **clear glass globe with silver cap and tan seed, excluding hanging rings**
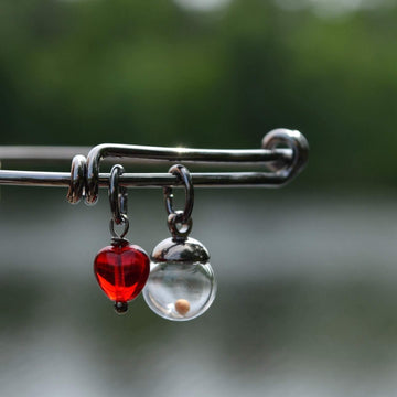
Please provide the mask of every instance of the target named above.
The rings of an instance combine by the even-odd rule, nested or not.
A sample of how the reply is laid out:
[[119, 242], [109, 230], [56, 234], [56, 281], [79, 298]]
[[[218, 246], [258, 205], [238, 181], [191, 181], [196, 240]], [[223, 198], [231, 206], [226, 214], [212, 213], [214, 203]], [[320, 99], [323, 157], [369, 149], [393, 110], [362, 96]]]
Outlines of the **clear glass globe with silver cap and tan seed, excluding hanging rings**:
[[193, 238], [161, 242], [151, 255], [143, 288], [149, 308], [172, 321], [192, 320], [214, 301], [216, 281], [206, 248]]

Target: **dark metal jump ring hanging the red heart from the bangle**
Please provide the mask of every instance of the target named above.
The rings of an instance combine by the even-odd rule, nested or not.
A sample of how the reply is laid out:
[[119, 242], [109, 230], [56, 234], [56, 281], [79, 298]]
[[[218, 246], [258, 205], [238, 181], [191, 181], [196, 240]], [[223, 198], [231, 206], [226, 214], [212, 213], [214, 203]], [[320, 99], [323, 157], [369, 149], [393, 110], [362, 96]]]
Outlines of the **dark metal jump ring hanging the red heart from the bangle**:
[[112, 221], [116, 225], [126, 223], [127, 219], [127, 187], [119, 185], [119, 176], [124, 173], [124, 167], [116, 164], [111, 168], [109, 178], [109, 203]]

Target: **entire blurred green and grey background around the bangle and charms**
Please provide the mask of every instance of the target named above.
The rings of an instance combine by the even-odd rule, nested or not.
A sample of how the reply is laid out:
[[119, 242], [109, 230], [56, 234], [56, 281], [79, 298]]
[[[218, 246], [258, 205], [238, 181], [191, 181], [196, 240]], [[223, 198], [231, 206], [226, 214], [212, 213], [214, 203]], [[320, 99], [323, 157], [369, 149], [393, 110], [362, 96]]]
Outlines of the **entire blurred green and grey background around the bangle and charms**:
[[[2, 187], [1, 396], [395, 396], [396, 22], [393, 0], [1, 1], [0, 144], [311, 146], [283, 189], [196, 190], [218, 294], [189, 323], [114, 313], [106, 192]], [[168, 237], [160, 190], [130, 218]]]

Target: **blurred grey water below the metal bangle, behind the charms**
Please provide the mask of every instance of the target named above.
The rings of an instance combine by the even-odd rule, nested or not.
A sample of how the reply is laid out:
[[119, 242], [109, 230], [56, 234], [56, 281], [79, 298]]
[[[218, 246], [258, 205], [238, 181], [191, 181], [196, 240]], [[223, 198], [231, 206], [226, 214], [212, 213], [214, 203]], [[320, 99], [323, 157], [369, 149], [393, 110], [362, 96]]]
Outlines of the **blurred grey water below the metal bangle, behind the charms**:
[[[196, 192], [192, 236], [218, 294], [181, 324], [141, 298], [114, 313], [92, 270], [106, 197], [88, 208], [64, 193], [2, 190], [1, 395], [395, 395], [391, 194]], [[168, 237], [159, 191], [131, 191], [129, 208], [131, 242]]]

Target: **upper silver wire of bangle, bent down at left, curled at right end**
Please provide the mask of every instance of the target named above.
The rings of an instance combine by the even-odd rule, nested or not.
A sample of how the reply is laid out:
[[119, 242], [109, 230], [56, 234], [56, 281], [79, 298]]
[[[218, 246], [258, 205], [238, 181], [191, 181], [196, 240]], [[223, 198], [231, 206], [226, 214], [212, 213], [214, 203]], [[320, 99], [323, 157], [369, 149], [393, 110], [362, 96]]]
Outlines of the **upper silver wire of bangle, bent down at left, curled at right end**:
[[[286, 144], [290, 149], [277, 149], [276, 147], [278, 144]], [[273, 179], [273, 181], [277, 182], [275, 184], [279, 185], [288, 182], [303, 168], [308, 158], [308, 152], [309, 144], [303, 135], [299, 131], [288, 129], [276, 129], [270, 131], [265, 136], [262, 140], [262, 149], [259, 150], [212, 150], [128, 144], [99, 144], [93, 148], [87, 157], [87, 191], [85, 201], [87, 204], [95, 204], [97, 202], [99, 187], [99, 164], [100, 161], [107, 157], [167, 160], [172, 162], [201, 162], [211, 164], [225, 162], [273, 162], [273, 175], [266, 172], [234, 172], [212, 174], [212, 179], [207, 182], [210, 182], [210, 184], [224, 185], [258, 185], [268, 184], [269, 179]], [[127, 175], [125, 175], [125, 178], [127, 178]], [[194, 183], [196, 184], [196, 182]]]

